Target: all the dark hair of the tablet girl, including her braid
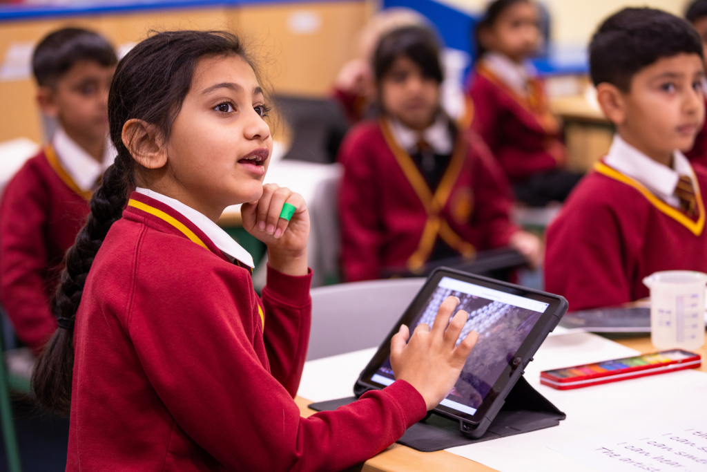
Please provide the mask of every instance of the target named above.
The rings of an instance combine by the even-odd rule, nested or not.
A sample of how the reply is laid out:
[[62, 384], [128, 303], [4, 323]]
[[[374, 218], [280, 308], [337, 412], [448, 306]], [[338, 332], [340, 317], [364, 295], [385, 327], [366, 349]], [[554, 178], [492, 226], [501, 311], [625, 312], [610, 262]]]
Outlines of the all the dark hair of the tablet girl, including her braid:
[[[136, 45], [118, 63], [108, 96], [110, 139], [118, 155], [103, 175], [103, 185], [90, 200], [86, 226], [66, 253], [64, 268], [52, 300], [60, 328], [37, 360], [32, 386], [39, 403], [56, 413], [68, 413], [74, 370], [74, 320], [86, 277], [110, 226], [120, 219], [139, 171], [122, 141], [127, 120], [155, 125], [165, 139], [192, 84], [197, 61], [204, 56], [243, 57], [234, 35], [221, 31], [168, 31]], [[258, 77], [257, 69], [253, 67]]]

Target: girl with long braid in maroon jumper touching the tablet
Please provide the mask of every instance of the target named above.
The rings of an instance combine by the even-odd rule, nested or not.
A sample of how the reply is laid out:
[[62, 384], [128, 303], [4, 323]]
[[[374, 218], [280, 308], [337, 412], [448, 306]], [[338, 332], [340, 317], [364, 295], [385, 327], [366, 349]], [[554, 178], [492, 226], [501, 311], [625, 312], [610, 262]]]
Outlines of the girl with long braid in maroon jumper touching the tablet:
[[[71, 411], [66, 470], [339, 470], [377, 454], [457, 380], [476, 335], [450, 297], [431, 330], [392, 340], [397, 381], [300, 418], [310, 326], [303, 198], [262, 185], [272, 139], [236, 38], [153, 35], [118, 64], [108, 100], [118, 156], [66, 254], [59, 327], [33, 386]], [[268, 248], [252, 258], [217, 225], [243, 204]], [[293, 209], [291, 221], [281, 210]], [[73, 382], [72, 382], [73, 378]], [[70, 402], [70, 403], [69, 403]]]

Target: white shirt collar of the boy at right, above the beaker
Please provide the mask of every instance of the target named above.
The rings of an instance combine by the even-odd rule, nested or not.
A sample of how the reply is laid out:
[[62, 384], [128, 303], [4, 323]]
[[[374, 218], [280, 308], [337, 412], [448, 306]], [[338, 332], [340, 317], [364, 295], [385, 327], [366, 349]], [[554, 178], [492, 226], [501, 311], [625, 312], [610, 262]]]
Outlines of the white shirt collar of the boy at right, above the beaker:
[[680, 200], [674, 195], [680, 175], [689, 175], [693, 183], [695, 175], [690, 162], [680, 151], [673, 152], [673, 168], [663, 166], [650, 157], [638, 151], [631, 144], [614, 134], [614, 141], [609, 148], [609, 154], [604, 158], [608, 166], [637, 180], [645, 188], [668, 205], [679, 208]]

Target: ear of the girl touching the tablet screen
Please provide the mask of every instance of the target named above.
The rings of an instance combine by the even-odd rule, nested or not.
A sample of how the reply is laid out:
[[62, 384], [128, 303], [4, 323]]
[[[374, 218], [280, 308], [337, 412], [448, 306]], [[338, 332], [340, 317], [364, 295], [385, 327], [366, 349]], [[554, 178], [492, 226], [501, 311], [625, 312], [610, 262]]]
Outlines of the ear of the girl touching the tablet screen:
[[167, 146], [162, 132], [143, 120], [127, 120], [122, 141], [132, 158], [144, 168], [158, 169], [167, 164]]

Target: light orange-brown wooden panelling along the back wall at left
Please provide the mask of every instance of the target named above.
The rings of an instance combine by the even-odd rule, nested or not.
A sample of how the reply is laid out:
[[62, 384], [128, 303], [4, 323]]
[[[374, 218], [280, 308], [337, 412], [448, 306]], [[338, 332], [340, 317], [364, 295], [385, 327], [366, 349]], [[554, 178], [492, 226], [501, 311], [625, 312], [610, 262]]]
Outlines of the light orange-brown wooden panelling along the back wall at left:
[[[136, 2], [137, 3], [137, 2]], [[356, 37], [375, 11], [375, 0], [243, 2], [197, 9], [97, 13], [0, 22], [0, 142], [16, 137], [43, 141], [42, 119], [30, 75], [34, 45], [67, 25], [103, 33], [129, 47], [150, 30], [236, 30], [277, 93], [323, 97], [341, 65], [356, 54]], [[11, 113], [8, 113], [11, 110]]]

